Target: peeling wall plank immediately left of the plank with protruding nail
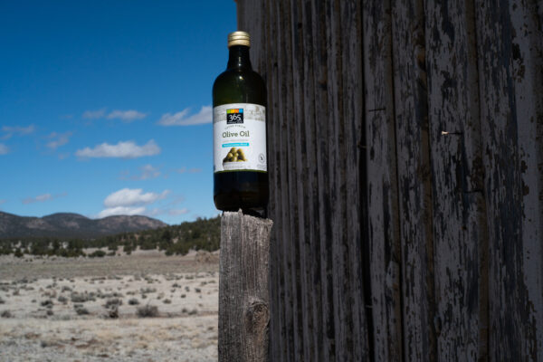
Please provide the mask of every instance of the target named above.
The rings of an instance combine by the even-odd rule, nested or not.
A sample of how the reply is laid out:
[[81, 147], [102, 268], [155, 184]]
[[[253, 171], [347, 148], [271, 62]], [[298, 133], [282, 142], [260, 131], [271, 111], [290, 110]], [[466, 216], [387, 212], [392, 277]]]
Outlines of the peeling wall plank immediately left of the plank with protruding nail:
[[396, 2], [392, 19], [404, 354], [432, 361], [433, 187], [422, 0]]

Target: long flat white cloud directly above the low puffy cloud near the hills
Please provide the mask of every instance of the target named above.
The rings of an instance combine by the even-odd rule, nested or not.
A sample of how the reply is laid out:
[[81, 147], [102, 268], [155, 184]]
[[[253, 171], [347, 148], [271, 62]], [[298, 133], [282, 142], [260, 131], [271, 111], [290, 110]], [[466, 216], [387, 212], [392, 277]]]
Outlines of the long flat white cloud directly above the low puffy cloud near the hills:
[[95, 148], [78, 149], [75, 153], [79, 157], [121, 157], [136, 158], [154, 156], [160, 153], [160, 148], [153, 139], [143, 146], [138, 146], [134, 141], [120, 141], [117, 145], [102, 143]]

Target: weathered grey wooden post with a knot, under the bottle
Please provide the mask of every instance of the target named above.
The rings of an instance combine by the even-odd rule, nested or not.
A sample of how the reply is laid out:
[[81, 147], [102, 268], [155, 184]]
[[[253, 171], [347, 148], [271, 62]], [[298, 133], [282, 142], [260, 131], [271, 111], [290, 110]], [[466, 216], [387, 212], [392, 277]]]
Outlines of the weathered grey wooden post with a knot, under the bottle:
[[273, 223], [226, 212], [221, 219], [219, 361], [268, 361], [269, 255]]

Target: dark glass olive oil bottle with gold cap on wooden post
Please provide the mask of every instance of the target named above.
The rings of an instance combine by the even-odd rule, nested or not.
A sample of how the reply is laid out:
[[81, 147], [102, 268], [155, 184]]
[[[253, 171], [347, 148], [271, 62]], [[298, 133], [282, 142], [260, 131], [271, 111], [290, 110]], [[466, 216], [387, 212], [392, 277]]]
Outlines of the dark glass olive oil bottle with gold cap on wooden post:
[[265, 215], [268, 204], [266, 87], [252, 71], [249, 33], [228, 35], [226, 71], [213, 85], [214, 204]]

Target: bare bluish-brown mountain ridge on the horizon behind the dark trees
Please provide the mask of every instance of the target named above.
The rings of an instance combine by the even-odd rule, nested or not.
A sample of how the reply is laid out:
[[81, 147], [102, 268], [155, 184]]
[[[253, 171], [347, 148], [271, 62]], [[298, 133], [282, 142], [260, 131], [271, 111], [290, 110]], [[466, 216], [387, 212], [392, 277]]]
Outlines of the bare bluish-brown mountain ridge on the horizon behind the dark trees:
[[59, 213], [43, 217], [18, 216], [0, 212], [0, 238], [93, 239], [116, 233], [138, 232], [167, 226], [147, 216], [109, 216], [90, 219], [81, 214]]

